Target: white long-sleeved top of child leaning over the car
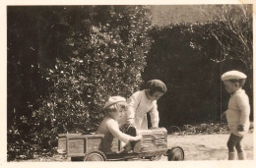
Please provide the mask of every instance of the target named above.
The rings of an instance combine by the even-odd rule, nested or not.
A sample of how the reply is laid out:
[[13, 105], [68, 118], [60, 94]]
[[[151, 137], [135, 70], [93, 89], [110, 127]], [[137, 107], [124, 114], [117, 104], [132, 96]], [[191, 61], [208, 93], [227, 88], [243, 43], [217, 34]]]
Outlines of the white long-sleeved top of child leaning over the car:
[[148, 129], [147, 113], [150, 112], [153, 127], [158, 127], [160, 122], [157, 100], [152, 101], [146, 95], [146, 90], [133, 93], [127, 100], [128, 110], [126, 119], [134, 118], [135, 128]]

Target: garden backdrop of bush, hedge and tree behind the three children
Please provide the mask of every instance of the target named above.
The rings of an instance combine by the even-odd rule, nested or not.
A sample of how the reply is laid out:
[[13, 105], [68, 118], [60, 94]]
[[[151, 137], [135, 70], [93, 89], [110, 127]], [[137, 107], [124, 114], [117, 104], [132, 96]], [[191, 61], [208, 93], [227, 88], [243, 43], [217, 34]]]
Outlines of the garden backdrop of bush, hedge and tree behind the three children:
[[94, 132], [108, 96], [153, 79], [168, 87], [160, 127], [221, 129], [221, 75], [234, 69], [248, 76], [253, 110], [252, 5], [9, 6], [7, 22], [9, 161], [54, 153], [58, 134]]

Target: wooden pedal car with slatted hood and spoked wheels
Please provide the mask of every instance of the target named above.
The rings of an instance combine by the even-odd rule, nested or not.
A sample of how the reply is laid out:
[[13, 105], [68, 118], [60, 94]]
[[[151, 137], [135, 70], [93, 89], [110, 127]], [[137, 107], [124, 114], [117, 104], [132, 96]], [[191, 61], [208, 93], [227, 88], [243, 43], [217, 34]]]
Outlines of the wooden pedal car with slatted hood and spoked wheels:
[[133, 149], [125, 152], [121, 141], [112, 136], [61, 134], [58, 135], [58, 152], [72, 161], [113, 161], [131, 159], [158, 160], [161, 155], [168, 160], [184, 160], [179, 146], [167, 147], [167, 131], [164, 128], [138, 131], [143, 139], [135, 142]]

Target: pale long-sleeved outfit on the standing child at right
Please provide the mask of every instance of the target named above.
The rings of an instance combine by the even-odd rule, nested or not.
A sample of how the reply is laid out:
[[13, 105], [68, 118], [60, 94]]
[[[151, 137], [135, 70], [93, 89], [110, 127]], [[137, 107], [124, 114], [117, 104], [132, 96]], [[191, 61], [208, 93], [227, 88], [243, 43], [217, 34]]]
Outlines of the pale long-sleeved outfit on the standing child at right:
[[249, 130], [250, 104], [249, 98], [241, 88], [231, 94], [226, 110], [226, 120], [231, 133], [236, 136], [243, 136], [237, 132], [237, 126], [244, 126], [245, 132]]

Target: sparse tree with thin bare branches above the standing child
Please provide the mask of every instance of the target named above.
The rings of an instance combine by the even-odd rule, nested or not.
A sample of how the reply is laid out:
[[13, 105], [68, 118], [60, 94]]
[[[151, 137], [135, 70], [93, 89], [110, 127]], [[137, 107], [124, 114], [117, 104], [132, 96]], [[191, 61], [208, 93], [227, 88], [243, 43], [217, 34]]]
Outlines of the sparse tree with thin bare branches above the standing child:
[[250, 88], [253, 89], [253, 48], [252, 48], [252, 5], [223, 5], [210, 17], [211, 23], [219, 23], [218, 28], [208, 28], [211, 36], [221, 47], [215, 62], [240, 62], [248, 75]]

